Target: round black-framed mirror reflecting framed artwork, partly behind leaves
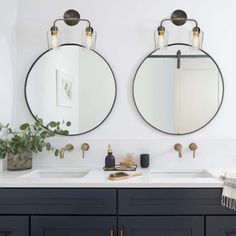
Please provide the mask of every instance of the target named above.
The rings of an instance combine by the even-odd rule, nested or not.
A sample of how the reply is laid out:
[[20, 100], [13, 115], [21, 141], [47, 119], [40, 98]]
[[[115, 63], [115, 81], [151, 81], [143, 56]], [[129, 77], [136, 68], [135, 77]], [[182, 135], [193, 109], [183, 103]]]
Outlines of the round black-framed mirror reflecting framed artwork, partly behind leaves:
[[87, 133], [110, 114], [116, 81], [106, 60], [81, 45], [65, 44], [44, 52], [32, 65], [25, 82], [25, 98], [35, 119], [71, 126], [69, 135]]

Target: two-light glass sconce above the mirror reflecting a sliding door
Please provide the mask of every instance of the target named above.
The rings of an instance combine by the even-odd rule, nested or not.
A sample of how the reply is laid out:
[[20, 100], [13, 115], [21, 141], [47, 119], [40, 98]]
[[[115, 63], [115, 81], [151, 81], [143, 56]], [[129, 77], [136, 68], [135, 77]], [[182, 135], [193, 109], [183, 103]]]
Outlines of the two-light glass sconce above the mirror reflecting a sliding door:
[[168, 32], [166, 32], [163, 23], [166, 21], [171, 21], [174, 25], [182, 26], [187, 21], [191, 21], [195, 23], [195, 27], [189, 33], [189, 44], [196, 49], [202, 48], [202, 41], [203, 41], [203, 32], [198, 27], [198, 23], [195, 19], [189, 19], [187, 17], [186, 12], [182, 10], [175, 10], [170, 18], [164, 19], [161, 21], [160, 26], [154, 32], [155, 37], [155, 47], [156, 49], [161, 49], [167, 46], [168, 44]]

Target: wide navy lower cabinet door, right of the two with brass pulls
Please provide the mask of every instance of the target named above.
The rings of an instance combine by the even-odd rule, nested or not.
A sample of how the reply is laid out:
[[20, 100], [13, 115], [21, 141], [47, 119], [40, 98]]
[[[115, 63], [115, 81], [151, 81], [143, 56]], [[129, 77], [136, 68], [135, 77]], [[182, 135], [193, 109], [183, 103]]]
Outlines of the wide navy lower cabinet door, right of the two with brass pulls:
[[204, 236], [204, 217], [121, 216], [119, 231], [120, 236]]

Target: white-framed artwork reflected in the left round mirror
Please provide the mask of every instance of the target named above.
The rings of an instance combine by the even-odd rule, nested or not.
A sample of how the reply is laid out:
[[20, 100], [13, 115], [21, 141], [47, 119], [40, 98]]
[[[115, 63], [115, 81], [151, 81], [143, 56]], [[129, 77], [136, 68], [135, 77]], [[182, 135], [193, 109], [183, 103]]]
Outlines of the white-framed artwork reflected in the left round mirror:
[[74, 97], [73, 77], [61, 70], [56, 70], [57, 106], [72, 107]]

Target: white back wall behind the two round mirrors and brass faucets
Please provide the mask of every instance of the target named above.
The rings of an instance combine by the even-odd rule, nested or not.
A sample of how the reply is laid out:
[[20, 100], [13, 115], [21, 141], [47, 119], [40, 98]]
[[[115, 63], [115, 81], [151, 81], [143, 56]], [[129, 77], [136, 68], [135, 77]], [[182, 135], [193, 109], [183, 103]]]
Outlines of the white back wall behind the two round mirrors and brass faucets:
[[[227, 0], [227, 4], [222, 0], [198, 3], [194, 0], [20, 0], [16, 38], [19, 53], [14, 71], [17, 75], [15, 122], [30, 119], [23, 95], [26, 73], [35, 58], [46, 49], [46, 31], [53, 20], [69, 8], [79, 10], [82, 17], [91, 20], [98, 33], [96, 49], [114, 70], [118, 97], [113, 112], [99, 128], [83, 136], [58, 138], [58, 145], [73, 143], [76, 146], [73, 153], [67, 154], [64, 160], [45, 154], [35, 158], [36, 165], [101, 165], [108, 142], [113, 144], [116, 156], [125, 152], [149, 152], [156, 167], [171, 163], [178, 168], [236, 165], [235, 0]], [[131, 93], [136, 68], [154, 49], [154, 29], [175, 9], [183, 9], [189, 17], [199, 21], [205, 32], [203, 47], [218, 62], [225, 80], [225, 99], [219, 115], [206, 128], [187, 136], [169, 136], [149, 127], [139, 117]], [[187, 24], [179, 29], [169, 24], [166, 27], [171, 42], [188, 42], [188, 31], [192, 26]], [[84, 26], [68, 29], [61, 24], [60, 28], [69, 32], [67, 41], [81, 42], [79, 31]], [[91, 150], [82, 160], [79, 146], [84, 141], [91, 144]], [[192, 141], [199, 145], [196, 160], [190, 157], [187, 149], [183, 160], [179, 160], [173, 144], [181, 142], [187, 148]]]

